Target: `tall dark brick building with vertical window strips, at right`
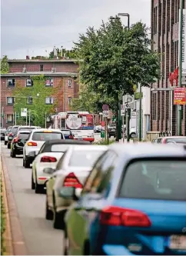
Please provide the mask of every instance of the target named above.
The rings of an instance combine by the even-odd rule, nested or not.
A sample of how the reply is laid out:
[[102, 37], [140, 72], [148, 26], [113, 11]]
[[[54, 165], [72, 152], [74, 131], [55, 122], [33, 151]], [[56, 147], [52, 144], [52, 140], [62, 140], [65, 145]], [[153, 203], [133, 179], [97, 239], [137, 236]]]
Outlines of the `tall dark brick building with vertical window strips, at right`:
[[[171, 131], [172, 135], [177, 135], [178, 111], [173, 92], [168, 91], [168, 77], [178, 67], [179, 5], [179, 0], [151, 0], [152, 49], [161, 54], [161, 79], [151, 86], [151, 131]], [[186, 136], [186, 106], [182, 109], [182, 135]]]

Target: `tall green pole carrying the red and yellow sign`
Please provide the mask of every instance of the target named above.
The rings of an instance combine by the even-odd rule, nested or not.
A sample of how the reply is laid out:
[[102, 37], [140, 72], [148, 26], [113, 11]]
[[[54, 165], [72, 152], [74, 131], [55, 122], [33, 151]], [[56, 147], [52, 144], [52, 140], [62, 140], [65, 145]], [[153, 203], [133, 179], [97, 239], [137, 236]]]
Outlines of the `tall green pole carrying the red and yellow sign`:
[[[179, 81], [178, 87], [182, 87], [181, 79], [182, 79], [182, 48], [183, 48], [183, 5], [184, 0], [180, 0], [180, 21], [179, 21], [179, 30], [180, 30], [180, 38], [179, 38]], [[178, 105], [178, 136], [181, 136], [181, 105]]]

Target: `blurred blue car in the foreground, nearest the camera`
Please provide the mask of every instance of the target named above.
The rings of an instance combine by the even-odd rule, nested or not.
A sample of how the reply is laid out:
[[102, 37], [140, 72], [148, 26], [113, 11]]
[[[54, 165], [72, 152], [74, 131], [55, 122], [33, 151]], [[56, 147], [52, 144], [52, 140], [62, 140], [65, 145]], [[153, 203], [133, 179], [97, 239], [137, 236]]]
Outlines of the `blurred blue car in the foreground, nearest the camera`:
[[186, 254], [186, 148], [111, 145], [65, 216], [63, 254]]

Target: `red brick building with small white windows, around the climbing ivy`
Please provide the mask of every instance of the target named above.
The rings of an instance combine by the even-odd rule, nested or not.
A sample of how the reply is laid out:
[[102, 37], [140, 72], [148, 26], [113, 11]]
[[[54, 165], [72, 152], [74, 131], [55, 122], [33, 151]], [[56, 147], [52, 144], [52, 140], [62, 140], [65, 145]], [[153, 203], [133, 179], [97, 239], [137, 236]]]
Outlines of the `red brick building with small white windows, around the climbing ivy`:
[[[9, 60], [9, 73], [1, 77], [1, 112], [5, 114], [4, 126], [13, 125], [13, 106], [15, 99], [12, 91], [16, 85], [33, 86], [33, 75], [46, 77], [45, 87], [58, 86], [60, 101], [57, 111], [69, 111], [71, 98], [78, 97], [78, 85], [75, 78], [78, 75], [78, 65], [70, 59], [29, 59]], [[49, 79], [48, 79], [49, 78]], [[45, 98], [45, 104], [52, 105], [55, 98]], [[32, 102], [30, 102], [32, 104]], [[2, 120], [1, 120], [2, 121]]]

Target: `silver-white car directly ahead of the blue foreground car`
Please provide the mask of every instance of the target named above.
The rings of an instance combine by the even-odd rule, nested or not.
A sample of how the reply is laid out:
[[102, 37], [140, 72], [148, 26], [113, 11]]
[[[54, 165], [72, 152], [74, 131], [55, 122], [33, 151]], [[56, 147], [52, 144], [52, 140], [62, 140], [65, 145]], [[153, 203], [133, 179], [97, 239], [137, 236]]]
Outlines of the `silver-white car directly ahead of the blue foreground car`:
[[[53, 175], [46, 182], [46, 218], [53, 219], [54, 228], [64, 228], [64, 215], [71, 201], [58, 194], [61, 187], [83, 188], [95, 160], [107, 150], [106, 146], [73, 145], [58, 161]], [[48, 170], [47, 170], [48, 171]], [[50, 173], [51, 173], [50, 172]]]

